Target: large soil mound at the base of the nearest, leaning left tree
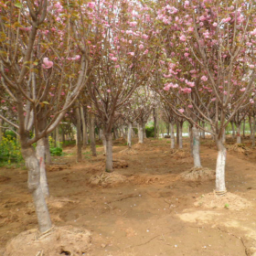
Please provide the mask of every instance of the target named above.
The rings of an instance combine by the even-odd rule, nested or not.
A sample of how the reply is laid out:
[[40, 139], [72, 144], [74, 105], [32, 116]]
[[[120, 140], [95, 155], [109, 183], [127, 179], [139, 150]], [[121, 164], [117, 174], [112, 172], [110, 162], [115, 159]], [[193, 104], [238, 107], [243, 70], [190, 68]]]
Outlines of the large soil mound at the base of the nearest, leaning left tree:
[[91, 232], [72, 226], [56, 227], [45, 234], [37, 229], [20, 233], [7, 243], [5, 256], [85, 255], [91, 245]]

